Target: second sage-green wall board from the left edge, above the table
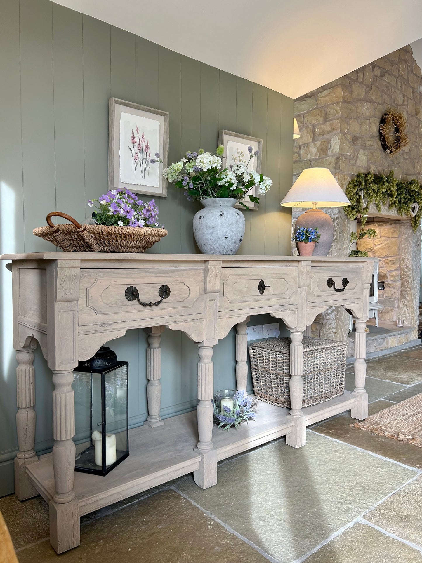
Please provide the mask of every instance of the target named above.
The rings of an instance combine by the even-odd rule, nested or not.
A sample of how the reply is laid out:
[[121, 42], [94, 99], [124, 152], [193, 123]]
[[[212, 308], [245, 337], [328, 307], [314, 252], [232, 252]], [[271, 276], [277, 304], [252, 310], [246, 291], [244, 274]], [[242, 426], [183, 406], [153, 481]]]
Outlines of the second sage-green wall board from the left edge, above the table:
[[20, 2], [20, 72], [24, 178], [25, 251], [52, 250], [35, 238], [56, 207], [53, 114], [53, 5], [48, 0]]

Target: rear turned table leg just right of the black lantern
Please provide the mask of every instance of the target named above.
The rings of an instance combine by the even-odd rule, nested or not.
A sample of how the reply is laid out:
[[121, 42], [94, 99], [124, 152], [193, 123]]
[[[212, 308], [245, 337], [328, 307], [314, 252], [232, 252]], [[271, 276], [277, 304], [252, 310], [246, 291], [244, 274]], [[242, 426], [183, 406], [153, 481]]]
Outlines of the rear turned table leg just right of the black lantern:
[[146, 387], [148, 397], [148, 418], [145, 421], [147, 426], [161, 426], [164, 421], [160, 417], [161, 406], [161, 333], [164, 327], [146, 328], [148, 334], [147, 352], [147, 378], [149, 379]]

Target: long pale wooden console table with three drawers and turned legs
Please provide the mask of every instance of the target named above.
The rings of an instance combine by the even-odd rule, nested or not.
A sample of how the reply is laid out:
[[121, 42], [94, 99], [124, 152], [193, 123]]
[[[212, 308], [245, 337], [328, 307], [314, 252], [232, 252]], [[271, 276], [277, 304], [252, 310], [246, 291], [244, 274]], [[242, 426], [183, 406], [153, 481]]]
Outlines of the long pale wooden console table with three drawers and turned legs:
[[[367, 416], [365, 327], [373, 258], [65, 252], [2, 258], [12, 260], [16, 495], [23, 500], [40, 493], [50, 504], [50, 540], [57, 553], [79, 545], [80, 515], [190, 472], [206, 489], [217, 483], [221, 459], [284, 435], [299, 448], [307, 425], [347, 410], [354, 418]], [[356, 319], [356, 387], [302, 409], [303, 331], [333, 305]], [[236, 383], [246, 389], [246, 323], [249, 315], [263, 313], [282, 319], [291, 333], [291, 410], [262, 403], [256, 422], [222, 432], [213, 428], [213, 345], [236, 325]], [[185, 332], [198, 343], [199, 354], [197, 411], [165, 422], [160, 418], [164, 327]], [[129, 431], [130, 456], [115, 470], [105, 477], [74, 473], [73, 369], [131, 328], [145, 328], [149, 335], [148, 420]], [[40, 458], [34, 451], [37, 342], [55, 385], [55, 444]]]

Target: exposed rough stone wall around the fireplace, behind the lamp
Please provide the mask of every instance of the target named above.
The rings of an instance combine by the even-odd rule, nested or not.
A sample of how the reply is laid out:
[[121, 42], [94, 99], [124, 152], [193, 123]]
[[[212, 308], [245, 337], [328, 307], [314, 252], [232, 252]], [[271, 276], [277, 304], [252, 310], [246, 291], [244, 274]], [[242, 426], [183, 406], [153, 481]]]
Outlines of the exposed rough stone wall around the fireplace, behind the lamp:
[[[293, 181], [303, 169], [309, 167], [329, 168], [343, 190], [357, 172], [388, 173], [393, 169], [398, 178], [420, 180], [421, 91], [422, 73], [412, 56], [411, 47], [406, 46], [295, 100], [294, 112], [300, 137], [294, 141]], [[405, 114], [410, 140], [406, 148], [393, 156], [385, 153], [379, 140], [380, 119], [390, 107]], [[293, 222], [302, 211], [294, 211]], [[334, 221], [334, 242], [330, 255], [348, 256], [349, 220], [341, 208], [324, 211]], [[414, 322], [419, 305], [420, 230], [414, 234], [410, 225], [405, 224], [408, 225], [408, 221], [403, 221], [398, 228], [409, 239], [406, 252], [403, 253], [400, 248], [399, 254], [394, 254], [392, 258], [398, 257], [403, 264], [406, 262], [406, 268], [404, 265], [393, 268], [394, 260], [388, 262], [384, 260], [385, 257], [381, 265], [388, 289], [384, 297], [386, 307], [383, 315], [388, 320], [394, 320], [394, 314], [389, 311], [394, 307], [388, 306], [394, 301], [396, 305], [398, 303], [397, 307], [412, 309], [408, 320], [410, 324]], [[396, 237], [389, 238], [393, 240]], [[400, 245], [398, 239], [399, 235], [397, 244]], [[361, 244], [365, 245], [364, 242]], [[383, 244], [381, 240], [376, 252], [383, 252]], [[377, 245], [375, 242], [371, 247], [374, 255]], [[293, 252], [296, 253], [295, 249]], [[417, 297], [414, 295], [416, 287]], [[417, 323], [412, 325], [417, 326]], [[314, 334], [340, 340], [347, 336], [347, 327], [347, 314], [339, 307], [334, 307], [324, 315], [318, 315], [312, 329]]]

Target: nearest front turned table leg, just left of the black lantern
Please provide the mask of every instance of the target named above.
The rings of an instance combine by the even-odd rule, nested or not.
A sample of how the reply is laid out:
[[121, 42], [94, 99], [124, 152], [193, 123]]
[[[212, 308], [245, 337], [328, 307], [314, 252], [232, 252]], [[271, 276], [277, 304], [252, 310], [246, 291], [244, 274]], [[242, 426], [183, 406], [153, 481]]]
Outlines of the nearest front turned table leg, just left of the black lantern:
[[50, 543], [57, 553], [79, 546], [79, 503], [73, 490], [75, 471], [75, 402], [73, 372], [53, 370], [53, 470], [56, 485], [50, 501]]

